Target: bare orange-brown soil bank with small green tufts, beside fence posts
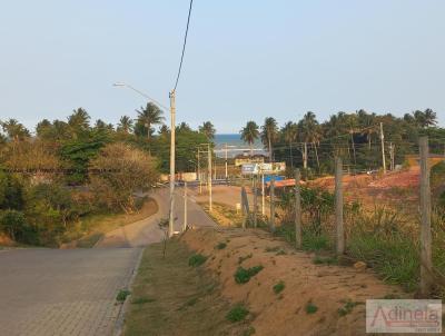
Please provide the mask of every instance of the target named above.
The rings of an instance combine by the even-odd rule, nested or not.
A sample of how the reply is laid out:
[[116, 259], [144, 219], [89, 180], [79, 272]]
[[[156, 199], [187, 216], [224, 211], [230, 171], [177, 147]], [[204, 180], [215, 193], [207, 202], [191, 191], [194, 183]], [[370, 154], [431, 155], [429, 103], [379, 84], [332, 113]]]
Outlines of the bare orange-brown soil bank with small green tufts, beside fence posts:
[[[197, 229], [182, 239], [209, 257], [205, 265], [221, 283], [222, 295], [247, 305], [255, 335], [365, 335], [367, 298], [404, 297], [398, 287], [383, 284], [369, 269], [315, 265], [313, 254], [295, 251], [261, 230]], [[217, 249], [221, 241], [227, 247]], [[264, 269], [247, 284], [235, 281], [239, 266], [257, 265]], [[285, 289], [275, 294], [273, 287], [279, 281]], [[338, 309], [347, 302], [354, 308], [340, 316]], [[316, 313], [306, 312], [309, 303], [318, 308]]]

